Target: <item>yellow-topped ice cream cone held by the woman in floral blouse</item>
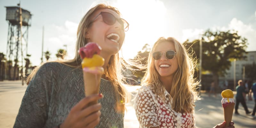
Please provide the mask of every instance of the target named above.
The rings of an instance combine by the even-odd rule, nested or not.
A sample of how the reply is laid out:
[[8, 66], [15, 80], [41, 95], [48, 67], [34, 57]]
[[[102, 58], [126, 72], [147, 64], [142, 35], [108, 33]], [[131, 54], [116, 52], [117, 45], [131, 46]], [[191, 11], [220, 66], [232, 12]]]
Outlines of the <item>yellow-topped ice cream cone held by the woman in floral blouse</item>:
[[226, 121], [226, 127], [228, 127], [230, 126], [235, 106], [234, 94], [230, 89], [226, 89], [221, 92], [221, 96], [223, 97], [221, 103], [224, 110], [224, 120]]

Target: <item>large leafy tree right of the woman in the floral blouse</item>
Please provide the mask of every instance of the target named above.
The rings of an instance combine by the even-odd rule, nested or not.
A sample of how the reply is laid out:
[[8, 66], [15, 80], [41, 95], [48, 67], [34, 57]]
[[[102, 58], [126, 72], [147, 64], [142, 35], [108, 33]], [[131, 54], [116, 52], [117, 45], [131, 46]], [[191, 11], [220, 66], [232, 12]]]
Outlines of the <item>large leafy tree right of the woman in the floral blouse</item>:
[[[194, 51], [199, 63], [199, 40], [184, 43], [188, 51]], [[237, 32], [207, 30], [202, 38], [202, 68], [212, 72], [215, 85], [219, 76], [224, 76], [231, 66], [232, 59], [244, 59], [247, 39], [238, 36]]]

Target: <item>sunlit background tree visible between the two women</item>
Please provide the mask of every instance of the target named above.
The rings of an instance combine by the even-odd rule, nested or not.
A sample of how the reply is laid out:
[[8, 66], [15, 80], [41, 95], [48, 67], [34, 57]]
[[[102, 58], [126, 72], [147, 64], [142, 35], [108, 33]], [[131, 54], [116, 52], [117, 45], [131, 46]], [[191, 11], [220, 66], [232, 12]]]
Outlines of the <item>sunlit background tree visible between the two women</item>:
[[[150, 47], [149, 44], [145, 44], [142, 47], [142, 50], [138, 52], [137, 56], [134, 57], [134, 59], [132, 59], [132, 61], [136, 61], [142, 65], [146, 65], [147, 61], [148, 61], [148, 54], [150, 52]], [[139, 62], [140, 61], [140, 62]], [[137, 76], [138, 78], [142, 78], [145, 74], [146, 69], [139, 69], [138, 67], [134, 67], [132, 66], [133, 69], [135, 69], [134, 71], [134, 76]]]

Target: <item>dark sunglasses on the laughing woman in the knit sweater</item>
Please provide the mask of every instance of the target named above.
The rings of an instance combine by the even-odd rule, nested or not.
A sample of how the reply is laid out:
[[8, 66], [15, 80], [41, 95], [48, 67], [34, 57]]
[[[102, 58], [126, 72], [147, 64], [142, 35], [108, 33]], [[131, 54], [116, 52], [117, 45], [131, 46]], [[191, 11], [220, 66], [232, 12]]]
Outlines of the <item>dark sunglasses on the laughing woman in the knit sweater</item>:
[[[102, 16], [102, 19], [103, 19], [104, 23], [106, 23], [106, 24], [108, 24], [108, 25], [114, 25], [114, 24], [116, 23], [116, 20], [117, 20], [117, 21], [121, 24], [121, 26], [122, 26], [122, 28], [124, 29], [124, 31], [128, 31], [128, 29], [129, 29], [129, 23], [128, 23], [126, 20], [122, 19], [122, 18], [120, 18], [120, 19], [116, 18], [114, 15], [112, 15], [112, 14], [109, 13], [109, 12], [100, 12], [100, 14], [98, 14], [98, 15], [92, 20], [92, 22], [93, 22], [99, 15]], [[91, 22], [91, 23], [92, 23], [92, 22]], [[90, 24], [91, 24], [91, 23], [90, 23]]]

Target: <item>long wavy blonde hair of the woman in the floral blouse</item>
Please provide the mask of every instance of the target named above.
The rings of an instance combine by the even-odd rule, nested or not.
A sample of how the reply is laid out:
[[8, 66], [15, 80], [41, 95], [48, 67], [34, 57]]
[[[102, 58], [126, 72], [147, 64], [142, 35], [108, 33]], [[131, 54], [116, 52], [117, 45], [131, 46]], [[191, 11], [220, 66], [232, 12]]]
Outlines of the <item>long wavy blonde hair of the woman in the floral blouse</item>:
[[169, 92], [170, 98], [173, 99], [172, 109], [181, 113], [193, 112], [195, 107], [193, 100], [196, 100], [197, 98], [196, 85], [198, 85], [198, 82], [193, 78], [196, 62], [190, 58], [184, 46], [175, 38], [158, 38], [149, 52], [148, 68], [144, 77], [142, 78], [141, 84], [150, 86], [157, 95], [159, 95], [162, 99], [165, 99], [165, 87], [159, 79], [160, 75], [155, 68], [155, 63], [152, 56], [156, 46], [162, 42], [173, 43], [177, 52], [176, 57], [178, 61], [178, 69], [174, 74], [172, 89], [171, 92]]

